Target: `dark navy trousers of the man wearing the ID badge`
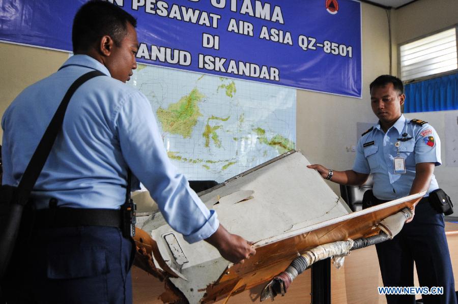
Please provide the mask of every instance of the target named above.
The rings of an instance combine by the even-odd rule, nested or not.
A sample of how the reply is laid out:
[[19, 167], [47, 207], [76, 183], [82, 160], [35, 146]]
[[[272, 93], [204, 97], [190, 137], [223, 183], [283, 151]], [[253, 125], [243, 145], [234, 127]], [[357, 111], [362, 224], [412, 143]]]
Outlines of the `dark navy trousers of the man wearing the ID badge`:
[[[414, 286], [414, 261], [420, 287], [444, 287], [443, 295], [422, 295], [427, 303], [456, 304], [444, 216], [421, 202], [415, 217], [392, 240], [376, 245], [384, 286]], [[415, 303], [415, 295], [386, 295], [388, 304]]]

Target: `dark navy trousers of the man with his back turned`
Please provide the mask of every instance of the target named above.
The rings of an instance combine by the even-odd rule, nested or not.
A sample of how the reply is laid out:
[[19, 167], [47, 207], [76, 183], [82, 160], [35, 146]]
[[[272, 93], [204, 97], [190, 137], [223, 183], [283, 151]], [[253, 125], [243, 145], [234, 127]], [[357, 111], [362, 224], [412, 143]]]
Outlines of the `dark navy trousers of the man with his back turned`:
[[133, 245], [115, 227], [34, 230], [21, 236], [2, 284], [12, 303], [132, 303]]

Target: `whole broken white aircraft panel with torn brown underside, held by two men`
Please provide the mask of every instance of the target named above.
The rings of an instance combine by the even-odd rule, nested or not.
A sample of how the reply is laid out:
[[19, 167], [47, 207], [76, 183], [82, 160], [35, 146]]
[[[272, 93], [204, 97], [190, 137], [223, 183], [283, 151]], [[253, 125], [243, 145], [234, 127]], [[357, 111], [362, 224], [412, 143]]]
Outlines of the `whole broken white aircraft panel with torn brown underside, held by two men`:
[[143, 253], [136, 263], [166, 281], [162, 300], [173, 294], [190, 303], [213, 302], [268, 282], [306, 250], [378, 233], [381, 220], [421, 197], [351, 213], [309, 164], [290, 151], [199, 193], [228, 231], [254, 243], [256, 255], [243, 264], [232, 265], [205, 241], [188, 244], [160, 214], [140, 217], [138, 228], [152, 239], [136, 238]]

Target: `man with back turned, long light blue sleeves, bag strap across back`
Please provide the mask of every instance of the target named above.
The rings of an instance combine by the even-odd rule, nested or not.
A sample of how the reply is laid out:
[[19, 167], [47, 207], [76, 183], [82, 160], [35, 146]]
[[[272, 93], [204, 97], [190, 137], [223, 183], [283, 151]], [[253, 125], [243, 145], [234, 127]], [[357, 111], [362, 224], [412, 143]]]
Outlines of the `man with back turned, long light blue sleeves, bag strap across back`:
[[[8, 303], [131, 302], [132, 242], [120, 227], [79, 224], [75, 209], [120, 209], [127, 170], [150, 191], [168, 224], [192, 243], [205, 239], [237, 263], [255, 253], [220, 225], [171, 165], [147, 98], [125, 84], [136, 69], [136, 20], [102, 1], [83, 5], [73, 23], [75, 55], [27, 87], [2, 119], [5, 185], [18, 185], [69, 86], [82, 84], [32, 192], [39, 209], [32, 236], [18, 248], [3, 282]], [[62, 212], [62, 211], [65, 212]], [[68, 219], [67, 219], [68, 218]], [[103, 219], [99, 219], [103, 222]], [[24, 223], [29, 224], [29, 223]]]

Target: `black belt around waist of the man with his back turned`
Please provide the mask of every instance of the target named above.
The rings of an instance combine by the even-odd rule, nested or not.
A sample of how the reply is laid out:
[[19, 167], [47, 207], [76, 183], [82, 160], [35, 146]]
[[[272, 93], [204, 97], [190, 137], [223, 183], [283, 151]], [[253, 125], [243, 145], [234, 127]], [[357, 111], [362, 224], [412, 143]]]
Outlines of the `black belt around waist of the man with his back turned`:
[[[28, 212], [27, 212], [28, 213]], [[107, 226], [122, 228], [121, 210], [57, 207], [31, 211], [34, 228]]]

